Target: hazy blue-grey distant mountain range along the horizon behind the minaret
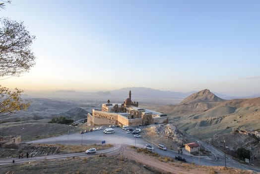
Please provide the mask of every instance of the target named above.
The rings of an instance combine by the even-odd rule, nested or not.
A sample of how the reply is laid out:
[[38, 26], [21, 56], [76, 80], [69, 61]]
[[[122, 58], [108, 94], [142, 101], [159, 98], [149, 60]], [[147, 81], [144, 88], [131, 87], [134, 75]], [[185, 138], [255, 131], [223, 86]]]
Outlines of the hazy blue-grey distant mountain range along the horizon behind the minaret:
[[[158, 89], [152, 89], [147, 87], [125, 87], [121, 89], [111, 91], [97, 91], [97, 92], [80, 92], [75, 90], [56, 90], [56, 91], [26, 91], [24, 97], [47, 97], [47, 98], [67, 98], [67, 99], [97, 99], [97, 100], [108, 100], [115, 102], [123, 102], [128, 98], [129, 90], [132, 93], [132, 99], [135, 101], [142, 101], [147, 103], [180, 103], [184, 98], [195, 93], [196, 91], [190, 92], [174, 92], [164, 91]], [[217, 92], [213, 92], [223, 99], [234, 99], [234, 98], [250, 98], [257, 97], [260, 94], [244, 97], [227, 96]], [[114, 102], [113, 101], [113, 102]]]

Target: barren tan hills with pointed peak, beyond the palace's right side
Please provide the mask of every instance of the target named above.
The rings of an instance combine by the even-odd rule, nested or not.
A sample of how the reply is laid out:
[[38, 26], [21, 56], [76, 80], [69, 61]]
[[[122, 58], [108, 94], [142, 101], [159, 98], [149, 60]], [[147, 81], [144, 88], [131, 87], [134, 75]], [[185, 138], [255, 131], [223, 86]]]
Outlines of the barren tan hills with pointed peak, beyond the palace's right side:
[[168, 113], [170, 123], [202, 139], [239, 128], [260, 129], [260, 97], [224, 100], [205, 89], [178, 105], [153, 109]]

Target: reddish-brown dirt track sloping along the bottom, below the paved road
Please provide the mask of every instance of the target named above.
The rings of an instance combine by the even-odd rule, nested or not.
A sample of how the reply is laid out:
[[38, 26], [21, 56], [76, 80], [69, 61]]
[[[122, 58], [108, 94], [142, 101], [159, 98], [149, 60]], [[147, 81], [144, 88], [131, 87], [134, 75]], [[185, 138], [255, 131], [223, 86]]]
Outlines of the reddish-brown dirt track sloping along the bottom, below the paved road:
[[144, 165], [155, 168], [155, 169], [165, 172], [165, 173], [170, 172], [172, 174], [208, 174], [207, 172], [204, 172], [204, 171], [178, 168], [176, 166], [161, 162], [152, 157], [143, 155], [142, 153], [137, 153], [133, 149], [130, 149], [129, 147], [124, 148], [122, 155], [129, 160], [133, 160], [133, 161], [142, 163]]

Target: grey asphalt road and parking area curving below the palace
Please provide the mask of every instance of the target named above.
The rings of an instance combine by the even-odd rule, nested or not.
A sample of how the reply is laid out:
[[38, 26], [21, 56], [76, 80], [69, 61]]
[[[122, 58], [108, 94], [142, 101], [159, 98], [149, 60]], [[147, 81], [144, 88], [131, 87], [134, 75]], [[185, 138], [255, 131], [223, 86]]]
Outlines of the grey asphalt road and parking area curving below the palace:
[[[105, 129], [105, 128], [104, 128]], [[103, 130], [104, 130], [103, 129]], [[160, 150], [156, 147], [156, 145], [153, 145], [143, 138], [134, 138], [133, 135], [127, 134], [125, 130], [115, 127], [115, 133], [114, 134], [104, 134], [103, 130], [97, 130], [93, 132], [87, 132], [84, 134], [79, 134], [78, 132], [76, 133], [70, 133], [68, 135], [63, 135], [63, 136], [58, 136], [58, 137], [51, 137], [51, 138], [46, 138], [46, 139], [41, 139], [41, 140], [35, 140], [35, 141], [29, 141], [27, 143], [45, 143], [45, 144], [86, 144], [86, 145], [91, 145], [91, 144], [101, 144], [102, 141], [105, 141], [107, 144], [114, 144], [115, 146], [112, 149], [108, 150], [103, 150], [97, 152], [97, 154], [101, 153], [116, 153], [119, 152], [120, 149], [123, 147], [123, 145], [127, 146], [136, 146], [140, 148], [144, 148], [145, 144], [150, 144], [154, 147], [154, 152], [157, 152], [159, 155], [162, 156], [168, 156], [171, 158], [175, 158], [178, 152], [172, 151], [172, 150], [167, 150], [163, 151]], [[73, 132], [72, 130], [69, 130], [69, 132]], [[187, 135], [189, 136], [189, 135]], [[191, 137], [190, 138], [194, 138]], [[187, 160], [187, 163], [195, 163], [203, 166], [225, 166], [224, 162], [224, 154], [220, 152], [219, 150], [215, 149], [214, 147], [194, 138], [195, 141], [199, 141], [200, 145], [202, 145], [205, 149], [211, 151], [215, 158], [199, 158], [190, 156], [190, 155], [185, 155], [183, 154], [182, 156]], [[56, 159], [56, 158], [66, 158], [66, 157], [76, 157], [76, 156], [85, 156], [84, 153], [76, 153], [76, 154], [64, 154], [64, 155], [53, 155], [53, 156], [46, 156], [46, 157], [34, 157], [33, 160], [42, 160], [44, 158], [47, 159]], [[29, 160], [32, 160], [32, 158]], [[28, 159], [16, 159], [15, 161], [17, 163], [22, 163], [24, 161], [29, 161]], [[199, 161], [199, 162], [198, 162]], [[4, 159], [0, 160], [0, 165], [4, 164], [10, 164], [11, 159]], [[233, 167], [233, 168], [239, 168], [243, 170], [252, 170], [255, 172], [260, 172], [260, 169], [253, 168], [248, 165], [242, 165], [236, 161], [234, 161], [232, 158], [227, 157], [226, 158], [226, 165], [227, 167]]]

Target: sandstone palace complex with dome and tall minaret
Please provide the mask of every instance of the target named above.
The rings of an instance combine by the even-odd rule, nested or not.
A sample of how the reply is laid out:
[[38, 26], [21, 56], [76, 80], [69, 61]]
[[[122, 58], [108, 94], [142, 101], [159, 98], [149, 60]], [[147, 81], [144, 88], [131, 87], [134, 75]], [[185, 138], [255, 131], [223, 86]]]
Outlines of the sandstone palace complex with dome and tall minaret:
[[124, 103], [110, 103], [108, 100], [102, 104], [101, 110], [92, 109], [92, 113], [87, 115], [87, 122], [91, 125], [150, 125], [168, 123], [168, 115], [138, 107], [138, 102], [131, 100], [129, 91]]

